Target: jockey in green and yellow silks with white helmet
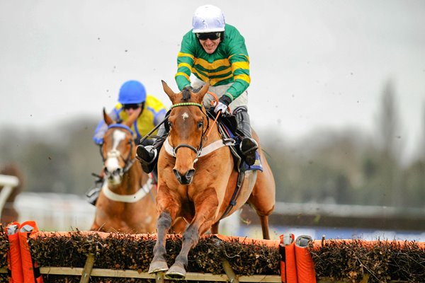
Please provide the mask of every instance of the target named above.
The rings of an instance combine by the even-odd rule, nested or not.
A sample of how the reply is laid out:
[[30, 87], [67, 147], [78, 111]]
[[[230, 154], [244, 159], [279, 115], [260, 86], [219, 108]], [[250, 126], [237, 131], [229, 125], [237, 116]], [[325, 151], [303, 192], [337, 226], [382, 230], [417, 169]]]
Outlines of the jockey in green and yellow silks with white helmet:
[[[193, 14], [192, 30], [183, 36], [177, 57], [176, 83], [180, 90], [200, 88], [210, 81], [209, 91], [219, 98], [214, 112], [226, 115], [232, 109], [237, 120], [237, 132], [242, 134], [240, 151], [244, 161], [253, 165], [258, 144], [251, 136], [248, 115], [249, 56], [244, 37], [237, 28], [225, 23], [220, 8], [212, 5], [200, 6]], [[191, 82], [190, 76], [195, 78]], [[214, 98], [207, 93], [203, 104], [211, 107]], [[163, 129], [162, 129], [163, 128]], [[159, 136], [166, 135], [164, 127]], [[152, 171], [157, 159], [157, 148], [162, 141], [157, 139], [153, 146], [138, 146], [137, 159], [145, 172]], [[157, 146], [159, 144], [159, 146]]]

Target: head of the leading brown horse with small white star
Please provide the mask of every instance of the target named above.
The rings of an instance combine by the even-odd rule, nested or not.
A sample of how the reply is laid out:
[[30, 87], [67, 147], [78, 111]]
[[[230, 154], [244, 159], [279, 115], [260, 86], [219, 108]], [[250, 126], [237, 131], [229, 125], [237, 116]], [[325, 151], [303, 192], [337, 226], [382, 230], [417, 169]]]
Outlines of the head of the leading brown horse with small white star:
[[188, 90], [174, 93], [164, 81], [162, 86], [173, 103], [169, 115], [169, 143], [176, 154], [174, 175], [182, 185], [189, 185], [195, 174], [194, 163], [198, 160], [208, 129], [203, 97], [210, 83], [206, 83], [198, 93]]

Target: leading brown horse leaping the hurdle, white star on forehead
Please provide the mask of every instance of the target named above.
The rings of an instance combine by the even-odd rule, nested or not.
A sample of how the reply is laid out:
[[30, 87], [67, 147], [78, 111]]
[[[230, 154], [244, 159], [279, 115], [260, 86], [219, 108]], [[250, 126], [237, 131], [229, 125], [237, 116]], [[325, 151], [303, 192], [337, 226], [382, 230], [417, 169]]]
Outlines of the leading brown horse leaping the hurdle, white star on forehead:
[[[162, 81], [171, 100], [169, 136], [158, 159], [157, 241], [149, 273], [165, 272], [171, 279], [186, 277], [188, 253], [206, 232], [218, 232], [220, 219], [248, 203], [261, 221], [263, 238], [270, 239], [268, 216], [275, 206], [276, 185], [261, 146], [263, 171], [246, 171], [239, 197], [234, 200], [238, 170], [229, 146], [225, 146], [217, 124], [208, 117], [203, 97], [210, 83], [197, 93], [183, 90], [174, 93]], [[208, 133], [207, 133], [208, 132]], [[259, 143], [258, 135], [253, 137]], [[234, 205], [229, 205], [229, 202]], [[230, 209], [229, 209], [230, 207]], [[183, 231], [182, 246], [174, 264], [166, 260], [166, 233], [176, 218], [183, 217], [188, 226]]]

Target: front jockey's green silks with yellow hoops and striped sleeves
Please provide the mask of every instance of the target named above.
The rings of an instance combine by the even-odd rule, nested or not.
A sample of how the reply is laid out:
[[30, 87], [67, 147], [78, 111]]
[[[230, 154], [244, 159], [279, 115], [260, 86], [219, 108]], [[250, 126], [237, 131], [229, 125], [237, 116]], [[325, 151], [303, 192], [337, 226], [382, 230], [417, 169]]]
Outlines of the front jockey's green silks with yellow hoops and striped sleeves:
[[180, 90], [191, 85], [189, 78], [193, 73], [201, 81], [210, 80], [211, 86], [231, 84], [225, 94], [233, 101], [251, 82], [244, 37], [229, 24], [225, 25], [224, 40], [212, 54], [205, 52], [196, 33], [192, 30], [186, 33], [181, 42], [177, 64], [176, 82]]

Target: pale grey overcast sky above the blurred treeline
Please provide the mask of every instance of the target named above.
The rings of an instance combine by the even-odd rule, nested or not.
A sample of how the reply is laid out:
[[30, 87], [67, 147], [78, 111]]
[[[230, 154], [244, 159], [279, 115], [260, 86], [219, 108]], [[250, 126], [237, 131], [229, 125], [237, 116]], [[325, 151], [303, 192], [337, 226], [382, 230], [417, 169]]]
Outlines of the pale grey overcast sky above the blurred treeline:
[[0, 125], [101, 118], [124, 81], [169, 106], [181, 37], [202, 4], [222, 8], [251, 59], [254, 127], [297, 139], [317, 127], [373, 131], [394, 81], [402, 139], [419, 145], [425, 108], [425, 1], [0, 0]]

